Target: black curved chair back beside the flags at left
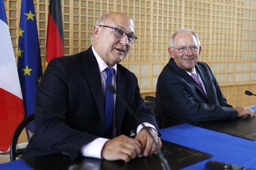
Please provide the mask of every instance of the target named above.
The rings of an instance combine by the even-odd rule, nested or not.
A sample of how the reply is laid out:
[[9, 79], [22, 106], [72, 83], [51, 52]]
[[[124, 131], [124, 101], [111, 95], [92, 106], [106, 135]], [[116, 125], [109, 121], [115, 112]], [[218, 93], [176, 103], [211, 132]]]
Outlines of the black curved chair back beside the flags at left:
[[16, 149], [19, 135], [22, 133], [22, 130], [26, 128], [26, 126], [35, 119], [35, 114], [30, 114], [30, 116], [24, 118], [22, 122], [20, 122], [19, 126], [16, 128], [13, 134], [13, 138], [11, 139], [10, 146], [10, 160], [16, 160], [16, 157], [19, 157], [23, 154], [24, 148]]

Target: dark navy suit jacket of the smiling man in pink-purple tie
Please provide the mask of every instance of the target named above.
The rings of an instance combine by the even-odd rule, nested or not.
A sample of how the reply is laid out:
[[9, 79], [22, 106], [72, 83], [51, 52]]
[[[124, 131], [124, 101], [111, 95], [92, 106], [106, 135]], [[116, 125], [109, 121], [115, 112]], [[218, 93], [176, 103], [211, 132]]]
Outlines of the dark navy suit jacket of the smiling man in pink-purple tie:
[[195, 67], [203, 80], [207, 96], [173, 59], [160, 73], [156, 85], [156, 105], [163, 127], [237, 117], [237, 111], [226, 102], [209, 66], [197, 62]]

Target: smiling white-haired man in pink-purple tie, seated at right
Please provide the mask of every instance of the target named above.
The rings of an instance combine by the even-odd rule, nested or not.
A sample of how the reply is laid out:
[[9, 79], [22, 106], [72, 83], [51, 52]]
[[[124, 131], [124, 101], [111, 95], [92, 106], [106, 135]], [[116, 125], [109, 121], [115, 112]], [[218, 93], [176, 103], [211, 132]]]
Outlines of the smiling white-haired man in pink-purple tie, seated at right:
[[232, 108], [222, 94], [209, 66], [197, 62], [201, 52], [199, 38], [189, 29], [172, 35], [170, 61], [156, 85], [156, 105], [163, 127], [185, 122], [221, 120], [250, 114], [250, 108]]

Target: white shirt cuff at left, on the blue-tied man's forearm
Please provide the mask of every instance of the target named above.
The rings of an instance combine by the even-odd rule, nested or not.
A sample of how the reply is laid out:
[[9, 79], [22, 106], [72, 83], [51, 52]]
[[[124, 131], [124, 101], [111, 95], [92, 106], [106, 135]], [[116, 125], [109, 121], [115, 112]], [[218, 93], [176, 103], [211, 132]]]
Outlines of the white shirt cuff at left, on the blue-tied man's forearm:
[[107, 141], [109, 141], [109, 139], [97, 138], [94, 141], [82, 146], [82, 156], [102, 159], [101, 150]]

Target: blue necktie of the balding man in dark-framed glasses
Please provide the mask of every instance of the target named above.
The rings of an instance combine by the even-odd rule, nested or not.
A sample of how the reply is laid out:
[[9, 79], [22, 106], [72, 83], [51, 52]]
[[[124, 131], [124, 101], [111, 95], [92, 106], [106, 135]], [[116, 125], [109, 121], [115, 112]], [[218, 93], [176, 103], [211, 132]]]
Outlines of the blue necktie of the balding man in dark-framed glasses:
[[108, 90], [108, 85], [112, 84], [112, 77], [114, 69], [106, 68], [106, 87], [105, 87], [105, 135], [106, 137], [112, 137], [112, 127], [114, 118], [114, 95]]

